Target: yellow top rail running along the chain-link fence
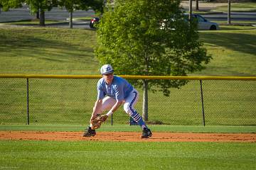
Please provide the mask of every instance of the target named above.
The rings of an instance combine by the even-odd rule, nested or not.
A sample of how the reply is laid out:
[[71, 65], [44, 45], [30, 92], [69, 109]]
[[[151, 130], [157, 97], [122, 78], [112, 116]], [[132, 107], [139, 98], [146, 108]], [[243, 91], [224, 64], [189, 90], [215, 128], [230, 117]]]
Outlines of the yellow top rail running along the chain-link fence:
[[[100, 79], [101, 75], [47, 75], [47, 74], [0, 74], [0, 78], [35, 79]], [[132, 76], [120, 75], [125, 79], [188, 79], [188, 80], [256, 80], [256, 77], [192, 77], [192, 76]]]

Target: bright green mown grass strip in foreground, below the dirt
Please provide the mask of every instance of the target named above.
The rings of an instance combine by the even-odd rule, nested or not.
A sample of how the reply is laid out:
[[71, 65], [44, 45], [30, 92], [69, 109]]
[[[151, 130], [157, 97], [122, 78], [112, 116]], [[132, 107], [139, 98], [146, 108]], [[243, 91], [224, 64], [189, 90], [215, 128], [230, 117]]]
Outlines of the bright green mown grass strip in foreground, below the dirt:
[[0, 141], [1, 169], [255, 169], [255, 143]]

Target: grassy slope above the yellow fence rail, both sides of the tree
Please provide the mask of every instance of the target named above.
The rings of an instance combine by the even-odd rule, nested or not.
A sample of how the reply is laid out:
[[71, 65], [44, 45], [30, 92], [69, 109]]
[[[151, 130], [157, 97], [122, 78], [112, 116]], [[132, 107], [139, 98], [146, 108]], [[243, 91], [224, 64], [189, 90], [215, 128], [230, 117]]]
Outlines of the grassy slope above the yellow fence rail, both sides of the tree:
[[[196, 74], [255, 76], [256, 29], [223, 27], [225, 30], [200, 31], [213, 60]], [[98, 74], [98, 62], [93, 55], [94, 30], [29, 27], [0, 30], [1, 74]]]

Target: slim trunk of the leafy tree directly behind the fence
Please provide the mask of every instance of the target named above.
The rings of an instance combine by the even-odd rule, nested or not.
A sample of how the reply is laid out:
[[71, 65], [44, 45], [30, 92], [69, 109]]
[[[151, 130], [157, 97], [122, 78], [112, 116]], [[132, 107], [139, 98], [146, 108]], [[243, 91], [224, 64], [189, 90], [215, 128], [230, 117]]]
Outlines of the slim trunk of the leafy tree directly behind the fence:
[[143, 108], [142, 108], [142, 118], [144, 121], [149, 120], [149, 101], [148, 101], [148, 81], [143, 80]]

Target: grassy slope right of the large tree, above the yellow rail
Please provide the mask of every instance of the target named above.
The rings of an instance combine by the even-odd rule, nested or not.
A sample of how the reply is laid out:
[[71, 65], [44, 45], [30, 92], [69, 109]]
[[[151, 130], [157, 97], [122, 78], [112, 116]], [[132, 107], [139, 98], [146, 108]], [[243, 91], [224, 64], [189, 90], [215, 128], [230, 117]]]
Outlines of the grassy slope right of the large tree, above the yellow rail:
[[[256, 28], [247, 29], [247, 26], [223, 27], [225, 30], [200, 32], [201, 40], [204, 42], [208, 54], [213, 56], [213, 60], [203, 72], [198, 72], [198, 74], [255, 76], [256, 45], [254, 42]], [[240, 28], [244, 29], [237, 30]]]

